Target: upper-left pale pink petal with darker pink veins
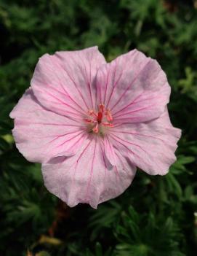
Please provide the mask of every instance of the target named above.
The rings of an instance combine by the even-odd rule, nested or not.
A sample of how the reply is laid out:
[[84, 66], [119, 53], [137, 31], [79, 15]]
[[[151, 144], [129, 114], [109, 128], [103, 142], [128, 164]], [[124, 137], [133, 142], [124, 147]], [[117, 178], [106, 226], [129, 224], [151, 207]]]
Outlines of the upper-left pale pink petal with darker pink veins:
[[45, 54], [36, 65], [31, 87], [47, 109], [75, 117], [95, 107], [95, 74], [105, 58], [90, 47]]

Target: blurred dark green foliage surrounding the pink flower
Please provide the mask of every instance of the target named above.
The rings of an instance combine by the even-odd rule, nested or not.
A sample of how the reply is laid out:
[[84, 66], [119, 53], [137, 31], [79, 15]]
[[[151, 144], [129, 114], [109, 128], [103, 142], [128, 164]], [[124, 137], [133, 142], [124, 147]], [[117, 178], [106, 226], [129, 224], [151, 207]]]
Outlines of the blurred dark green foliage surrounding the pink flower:
[[[197, 1], [0, 0], [0, 33], [0, 255], [196, 255]], [[182, 139], [165, 177], [138, 171], [97, 211], [69, 209], [17, 152], [9, 112], [39, 56], [95, 44], [108, 61], [135, 47], [158, 60]]]

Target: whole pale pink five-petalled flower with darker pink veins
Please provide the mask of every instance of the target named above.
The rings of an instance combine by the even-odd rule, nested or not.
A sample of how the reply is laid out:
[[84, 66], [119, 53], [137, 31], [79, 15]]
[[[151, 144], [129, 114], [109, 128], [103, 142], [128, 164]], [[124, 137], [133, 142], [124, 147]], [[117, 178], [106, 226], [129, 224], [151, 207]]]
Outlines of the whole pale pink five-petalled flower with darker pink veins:
[[110, 63], [97, 47], [45, 54], [10, 114], [13, 136], [26, 159], [42, 163], [51, 193], [97, 208], [126, 190], [136, 166], [164, 175], [176, 160], [169, 94], [161, 66], [138, 50]]

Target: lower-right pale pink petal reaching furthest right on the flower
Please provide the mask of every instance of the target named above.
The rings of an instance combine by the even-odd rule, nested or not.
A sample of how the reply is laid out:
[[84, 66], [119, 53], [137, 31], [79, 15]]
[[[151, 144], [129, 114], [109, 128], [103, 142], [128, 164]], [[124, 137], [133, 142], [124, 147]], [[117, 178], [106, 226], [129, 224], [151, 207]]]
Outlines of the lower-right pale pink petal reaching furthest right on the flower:
[[113, 147], [148, 174], [164, 175], [174, 163], [180, 129], [169, 121], [167, 110], [161, 117], [147, 123], [115, 126], [110, 132]]

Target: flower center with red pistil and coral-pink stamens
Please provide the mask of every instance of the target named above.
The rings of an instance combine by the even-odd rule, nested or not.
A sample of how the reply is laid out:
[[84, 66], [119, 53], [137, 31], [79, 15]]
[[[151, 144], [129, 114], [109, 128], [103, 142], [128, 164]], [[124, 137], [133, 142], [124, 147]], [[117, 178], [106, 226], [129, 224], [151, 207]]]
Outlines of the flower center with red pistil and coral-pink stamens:
[[113, 118], [110, 109], [105, 109], [103, 104], [98, 106], [97, 112], [89, 109], [87, 115], [88, 117], [85, 119], [85, 122], [88, 124], [89, 132], [100, 133], [100, 135], [103, 135], [107, 128], [113, 127]]

